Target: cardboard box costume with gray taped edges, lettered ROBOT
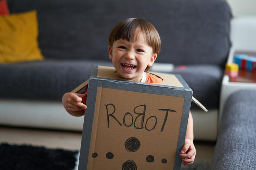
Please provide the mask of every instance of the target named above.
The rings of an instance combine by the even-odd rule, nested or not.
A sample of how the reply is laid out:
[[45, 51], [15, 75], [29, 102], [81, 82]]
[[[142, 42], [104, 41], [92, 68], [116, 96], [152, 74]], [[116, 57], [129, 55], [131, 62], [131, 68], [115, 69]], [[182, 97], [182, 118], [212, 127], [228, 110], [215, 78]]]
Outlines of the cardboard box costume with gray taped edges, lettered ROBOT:
[[93, 65], [79, 170], [180, 169], [192, 90], [180, 75], [155, 75], [163, 82], [122, 80], [114, 67]]

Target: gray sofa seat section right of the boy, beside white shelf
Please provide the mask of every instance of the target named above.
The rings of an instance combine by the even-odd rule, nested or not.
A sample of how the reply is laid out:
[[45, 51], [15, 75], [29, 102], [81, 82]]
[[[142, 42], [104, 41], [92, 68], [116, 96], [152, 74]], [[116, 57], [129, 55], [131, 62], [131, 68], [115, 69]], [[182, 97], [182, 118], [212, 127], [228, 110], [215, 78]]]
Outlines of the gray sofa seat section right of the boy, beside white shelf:
[[[193, 96], [207, 109], [219, 108], [219, 95], [223, 68], [217, 65], [188, 65], [185, 69], [174, 68], [172, 74], [180, 74], [193, 90]], [[194, 102], [192, 108], [199, 108]]]

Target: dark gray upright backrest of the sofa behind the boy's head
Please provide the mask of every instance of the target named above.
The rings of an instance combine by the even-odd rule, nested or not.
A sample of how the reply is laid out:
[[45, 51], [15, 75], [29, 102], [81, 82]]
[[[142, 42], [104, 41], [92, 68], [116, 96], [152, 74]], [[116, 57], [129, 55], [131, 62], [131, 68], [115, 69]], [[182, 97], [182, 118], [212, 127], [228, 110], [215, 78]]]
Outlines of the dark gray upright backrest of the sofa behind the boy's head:
[[8, 0], [11, 13], [37, 9], [39, 47], [46, 58], [108, 59], [114, 25], [143, 18], [162, 41], [157, 62], [223, 65], [231, 12], [223, 0]]

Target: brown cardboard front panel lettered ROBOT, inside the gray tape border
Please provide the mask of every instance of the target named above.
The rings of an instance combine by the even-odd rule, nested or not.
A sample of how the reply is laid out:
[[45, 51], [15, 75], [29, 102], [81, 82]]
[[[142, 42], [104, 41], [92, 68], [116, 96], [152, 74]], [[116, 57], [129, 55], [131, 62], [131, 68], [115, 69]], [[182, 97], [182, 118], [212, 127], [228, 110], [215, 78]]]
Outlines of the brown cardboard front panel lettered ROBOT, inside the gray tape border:
[[[98, 87], [87, 169], [121, 169], [128, 160], [133, 160], [138, 169], [173, 169], [183, 103], [184, 98], [181, 97]], [[169, 111], [165, 122], [167, 111], [159, 109], [176, 112]], [[108, 115], [114, 112], [112, 115], [117, 120], [109, 116], [108, 124], [107, 110]], [[143, 115], [135, 112], [145, 112], [144, 121]], [[140, 147], [135, 152], [125, 149], [125, 141], [131, 137], [140, 141]], [[113, 159], [106, 158], [109, 152], [113, 153]], [[93, 158], [93, 153], [98, 156]], [[154, 156], [154, 162], [146, 161], [148, 155]], [[166, 159], [167, 163], [162, 163], [162, 159]]]

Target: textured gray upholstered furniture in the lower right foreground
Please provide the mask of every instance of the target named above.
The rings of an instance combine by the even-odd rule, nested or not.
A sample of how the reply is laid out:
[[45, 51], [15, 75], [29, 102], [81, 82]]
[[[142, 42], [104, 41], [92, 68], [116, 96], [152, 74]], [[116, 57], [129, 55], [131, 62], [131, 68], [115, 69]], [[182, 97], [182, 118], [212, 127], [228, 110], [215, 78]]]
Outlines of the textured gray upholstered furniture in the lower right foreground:
[[225, 103], [213, 170], [256, 169], [256, 91], [234, 92]]

